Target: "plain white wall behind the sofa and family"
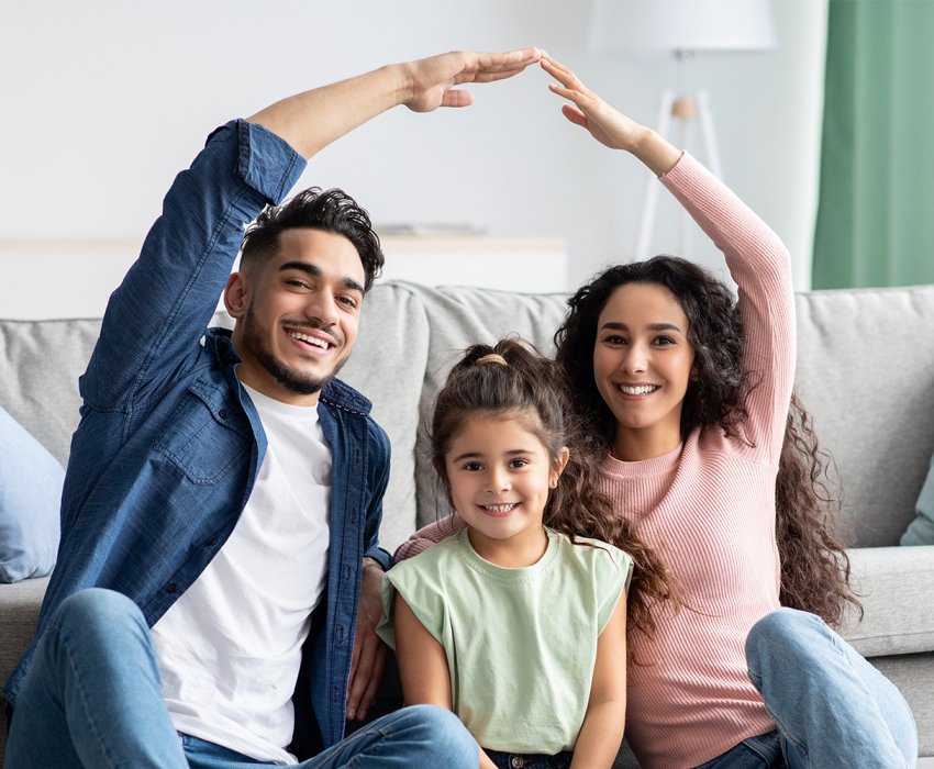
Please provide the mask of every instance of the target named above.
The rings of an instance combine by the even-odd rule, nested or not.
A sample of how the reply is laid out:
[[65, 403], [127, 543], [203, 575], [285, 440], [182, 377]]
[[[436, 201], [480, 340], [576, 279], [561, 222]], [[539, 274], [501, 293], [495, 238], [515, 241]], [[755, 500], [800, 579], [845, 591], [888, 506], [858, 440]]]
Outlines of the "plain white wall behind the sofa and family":
[[[453, 47], [545, 47], [654, 123], [660, 90], [675, 85], [674, 63], [587, 51], [590, 8], [587, 0], [4, 3], [0, 241], [141, 238], [173, 176], [215, 125], [385, 62]], [[782, 236], [807, 288], [826, 0], [775, 0], [775, 9], [777, 52], [699, 58], [693, 79], [710, 94], [727, 182]], [[497, 236], [563, 237], [577, 285], [632, 252], [646, 176], [566, 123], [546, 82], [531, 71], [476, 88], [468, 110], [398, 109], [322, 152], [301, 183], [344, 187], [377, 223], [465, 222]], [[696, 138], [688, 146], [703, 159]], [[659, 216], [653, 250], [675, 253], [674, 207]], [[718, 264], [700, 237], [690, 252]], [[3, 259], [0, 249], [0, 268]], [[24, 291], [54, 279], [9, 269], [3, 278]]]

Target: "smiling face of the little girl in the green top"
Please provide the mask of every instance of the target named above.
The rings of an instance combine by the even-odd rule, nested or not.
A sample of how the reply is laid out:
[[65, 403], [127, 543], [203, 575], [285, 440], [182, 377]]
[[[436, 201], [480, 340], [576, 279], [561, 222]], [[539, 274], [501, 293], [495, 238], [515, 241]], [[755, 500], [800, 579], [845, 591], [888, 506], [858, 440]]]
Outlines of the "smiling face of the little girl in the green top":
[[568, 459], [567, 447], [555, 458], [549, 455], [529, 430], [530, 419], [537, 417], [524, 413], [470, 417], [445, 455], [454, 509], [470, 528], [474, 549], [494, 562], [500, 559], [490, 556], [504, 547], [516, 551], [542, 547], [545, 502]]

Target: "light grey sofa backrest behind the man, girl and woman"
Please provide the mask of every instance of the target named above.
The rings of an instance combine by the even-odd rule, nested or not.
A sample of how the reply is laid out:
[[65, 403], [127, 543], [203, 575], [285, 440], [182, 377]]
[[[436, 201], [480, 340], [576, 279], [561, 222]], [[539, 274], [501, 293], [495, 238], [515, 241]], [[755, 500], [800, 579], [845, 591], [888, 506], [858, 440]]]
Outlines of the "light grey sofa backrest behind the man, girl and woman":
[[[388, 549], [447, 512], [425, 426], [460, 352], [519, 334], [551, 354], [566, 299], [401, 281], [367, 294], [341, 377], [373, 400], [392, 443]], [[934, 453], [934, 286], [814, 291], [798, 294], [797, 308], [798, 389], [835, 457], [844, 527], [859, 546], [897, 545]], [[63, 465], [99, 328], [97, 320], [0, 321], [0, 404]]]

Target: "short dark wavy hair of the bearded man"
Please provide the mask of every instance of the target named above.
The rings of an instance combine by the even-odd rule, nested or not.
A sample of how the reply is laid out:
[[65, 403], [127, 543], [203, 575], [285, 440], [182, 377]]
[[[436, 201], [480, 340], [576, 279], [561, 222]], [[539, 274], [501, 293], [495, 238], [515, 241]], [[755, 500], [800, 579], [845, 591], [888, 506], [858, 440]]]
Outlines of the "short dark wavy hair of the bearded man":
[[246, 229], [241, 247], [241, 267], [248, 268], [270, 257], [279, 247], [282, 231], [297, 227], [322, 230], [346, 237], [360, 256], [366, 274], [364, 290], [369, 291], [385, 261], [379, 236], [374, 232], [366, 210], [338, 189], [322, 191], [319, 187], [310, 187], [281, 205], [267, 207]]

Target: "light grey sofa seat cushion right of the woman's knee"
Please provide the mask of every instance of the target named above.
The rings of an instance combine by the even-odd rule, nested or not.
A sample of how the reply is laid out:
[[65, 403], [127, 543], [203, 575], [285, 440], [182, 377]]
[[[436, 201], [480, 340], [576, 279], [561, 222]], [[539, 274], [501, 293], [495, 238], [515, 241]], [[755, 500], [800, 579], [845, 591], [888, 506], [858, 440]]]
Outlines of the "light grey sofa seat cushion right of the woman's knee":
[[864, 657], [934, 651], [934, 546], [848, 551], [865, 616], [849, 611], [841, 633]]

